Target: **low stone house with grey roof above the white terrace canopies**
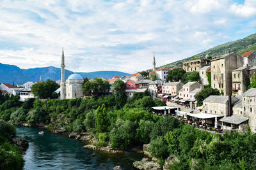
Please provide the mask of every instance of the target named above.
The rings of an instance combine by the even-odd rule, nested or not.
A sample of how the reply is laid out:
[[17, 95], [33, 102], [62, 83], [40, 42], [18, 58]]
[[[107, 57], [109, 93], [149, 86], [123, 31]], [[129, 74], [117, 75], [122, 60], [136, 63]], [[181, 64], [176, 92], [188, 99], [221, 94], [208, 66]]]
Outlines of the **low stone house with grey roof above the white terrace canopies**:
[[202, 112], [229, 117], [232, 115], [232, 104], [239, 99], [235, 96], [231, 97], [231, 103], [228, 101], [228, 96], [209, 96], [203, 101]]

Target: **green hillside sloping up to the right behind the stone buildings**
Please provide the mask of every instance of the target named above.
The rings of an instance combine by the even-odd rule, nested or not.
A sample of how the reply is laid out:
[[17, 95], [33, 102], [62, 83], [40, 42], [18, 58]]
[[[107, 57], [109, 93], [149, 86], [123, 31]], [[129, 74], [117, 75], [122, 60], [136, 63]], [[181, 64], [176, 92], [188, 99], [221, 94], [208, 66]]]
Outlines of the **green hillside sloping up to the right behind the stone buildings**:
[[176, 62], [172, 62], [170, 64], [166, 64], [162, 67], [171, 67], [171, 66], [180, 66], [182, 62], [186, 60], [191, 60], [194, 58], [204, 58], [205, 55], [210, 55], [212, 57], [216, 55], [222, 55], [229, 52], [236, 52], [238, 55], [242, 55], [244, 52], [250, 52], [252, 50], [256, 50], [256, 34], [252, 34], [246, 38], [239, 39], [237, 41], [231, 41], [222, 45], [215, 46], [214, 48], [210, 48], [202, 53], [198, 53], [193, 55], [192, 57], [188, 57], [183, 60], [178, 60]]

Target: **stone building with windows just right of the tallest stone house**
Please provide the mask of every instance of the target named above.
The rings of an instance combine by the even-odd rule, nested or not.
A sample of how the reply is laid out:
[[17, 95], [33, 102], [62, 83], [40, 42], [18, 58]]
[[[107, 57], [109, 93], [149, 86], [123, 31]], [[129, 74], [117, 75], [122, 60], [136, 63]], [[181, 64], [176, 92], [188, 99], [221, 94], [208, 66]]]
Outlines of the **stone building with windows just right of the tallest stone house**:
[[250, 84], [248, 66], [242, 66], [232, 71], [232, 94], [241, 95]]

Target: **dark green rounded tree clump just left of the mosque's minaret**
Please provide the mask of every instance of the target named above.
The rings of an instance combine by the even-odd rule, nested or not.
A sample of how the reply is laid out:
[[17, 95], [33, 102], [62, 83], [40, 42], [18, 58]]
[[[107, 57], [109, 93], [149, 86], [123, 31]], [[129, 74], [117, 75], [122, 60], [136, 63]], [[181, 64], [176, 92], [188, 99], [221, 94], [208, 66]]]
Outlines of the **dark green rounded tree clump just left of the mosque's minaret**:
[[59, 87], [60, 85], [58, 85], [58, 83], [47, 79], [45, 82], [43, 81], [32, 85], [31, 92], [40, 99], [55, 99], [58, 98], [58, 95], [54, 93], [54, 91]]

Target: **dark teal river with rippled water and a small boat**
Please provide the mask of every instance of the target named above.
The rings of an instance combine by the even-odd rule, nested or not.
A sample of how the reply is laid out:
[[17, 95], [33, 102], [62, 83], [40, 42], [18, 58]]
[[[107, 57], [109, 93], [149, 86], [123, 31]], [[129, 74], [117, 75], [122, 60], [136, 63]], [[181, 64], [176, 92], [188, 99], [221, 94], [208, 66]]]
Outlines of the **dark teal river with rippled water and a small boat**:
[[[143, 153], [124, 152], [118, 155], [93, 152], [83, 148], [84, 143], [36, 127], [16, 126], [17, 136], [28, 139], [29, 148], [24, 155], [24, 169], [134, 169], [132, 162], [141, 160]], [[95, 153], [95, 157], [92, 157]]]

